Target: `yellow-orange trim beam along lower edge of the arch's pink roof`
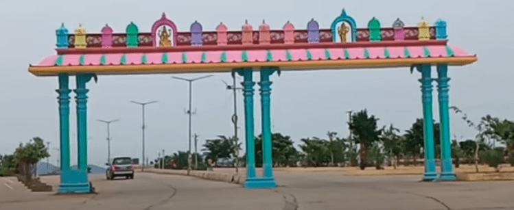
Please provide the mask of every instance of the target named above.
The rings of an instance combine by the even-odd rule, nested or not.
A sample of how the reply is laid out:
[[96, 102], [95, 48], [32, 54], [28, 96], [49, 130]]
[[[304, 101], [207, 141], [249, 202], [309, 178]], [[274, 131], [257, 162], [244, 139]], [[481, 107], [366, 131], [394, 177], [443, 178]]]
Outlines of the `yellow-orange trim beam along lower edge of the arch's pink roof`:
[[222, 73], [234, 68], [260, 68], [276, 66], [282, 70], [323, 70], [345, 68], [394, 68], [414, 64], [448, 64], [464, 66], [477, 62], [477, 57], [424, 57], [424, 58], [388, 58], [358, 60], [310, 60], [296, 62], [238, 62], [238, 63], [202, 63], [202, 64], [142, 64], [116, 66], [31, 66], [30, 73], [36, 76], [56, 76], [60, 73], [75, 75], [91, 73], [97, 75], [140, 75], [164, 73]]

